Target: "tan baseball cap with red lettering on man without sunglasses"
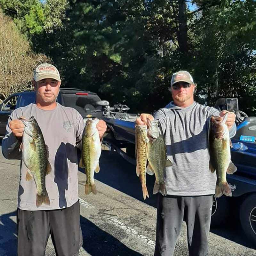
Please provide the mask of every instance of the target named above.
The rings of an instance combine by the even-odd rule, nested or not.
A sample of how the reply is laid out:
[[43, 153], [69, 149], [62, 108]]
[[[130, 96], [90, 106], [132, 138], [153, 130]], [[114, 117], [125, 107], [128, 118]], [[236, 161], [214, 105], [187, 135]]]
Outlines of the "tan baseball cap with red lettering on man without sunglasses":
[[56, 79], [57, 81], [61, 81], [58, 69], [53, 65], [45, 62], [37, 66], [34, 70], [34, 80], [37, 82], [46, 78], [52, 78]]

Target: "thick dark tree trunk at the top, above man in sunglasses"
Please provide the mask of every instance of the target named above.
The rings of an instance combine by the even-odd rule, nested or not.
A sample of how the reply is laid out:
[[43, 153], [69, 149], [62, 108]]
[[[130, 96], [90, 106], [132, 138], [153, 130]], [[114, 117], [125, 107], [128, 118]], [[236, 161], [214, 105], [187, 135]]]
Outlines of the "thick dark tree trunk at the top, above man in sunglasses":
[[178, 0], [178, 3], [179, 3], [178, 43], [180, 46], [180, 52], [188, 53], [188, 27], [187, 27], [186, 1]]

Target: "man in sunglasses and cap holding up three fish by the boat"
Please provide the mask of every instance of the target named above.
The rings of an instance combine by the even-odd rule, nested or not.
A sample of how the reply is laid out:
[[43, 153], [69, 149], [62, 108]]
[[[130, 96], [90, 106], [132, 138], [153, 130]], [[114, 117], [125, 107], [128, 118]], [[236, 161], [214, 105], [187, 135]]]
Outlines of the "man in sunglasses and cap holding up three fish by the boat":
[[[158, 119], [165, 136], [168, 158], [166, 167], [167, 195], [158, 194], [155, 256], [172, 256], [186, 221], [190, 256], [208, 255], [213, 194], [216, 173], [209, 171], [208, 127], [210, 117], [225, 115], [215, 108], [194, 101], [196, 84], [187, 71], [172, 75], [173, 101], [156, 114], [141, 114], [137, 124], [147, 124], [147, 118]], [[236, 115], [228, 112], [226, 124], [230, 137], [236, 133]]]

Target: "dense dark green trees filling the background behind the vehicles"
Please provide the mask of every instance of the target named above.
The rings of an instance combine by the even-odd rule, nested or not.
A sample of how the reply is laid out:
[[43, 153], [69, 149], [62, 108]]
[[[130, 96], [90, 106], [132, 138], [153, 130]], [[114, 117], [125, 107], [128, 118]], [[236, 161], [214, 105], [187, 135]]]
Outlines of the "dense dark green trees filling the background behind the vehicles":
[[194, 0], [195, 11], [182, 2], [0, 0], [0, 7], [53, 59], [66, 86], [154, 111], [171, 100], [172, 73], [185, 69], [200, 103], [238, 97], [241, 110], [256, 114], [256, 2]]

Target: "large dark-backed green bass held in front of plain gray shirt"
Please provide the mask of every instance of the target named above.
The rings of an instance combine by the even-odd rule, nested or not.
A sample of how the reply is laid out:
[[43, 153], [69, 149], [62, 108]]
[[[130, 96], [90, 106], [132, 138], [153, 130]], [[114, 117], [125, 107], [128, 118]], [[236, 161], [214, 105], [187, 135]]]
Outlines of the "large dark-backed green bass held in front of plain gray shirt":
[[42, 204], [50, 205], [50, 199], [45, 188], [45, 176], [52, 171], [48, 161], [48, 147], [45, 145], [42, 131], [34, 116], [29, 119], [20, 117], [19, 120], [25, 125], [20, 150], [22, 150], [23, 163], [28, 168], [26, 180], [35, 180], [36, 207]]

